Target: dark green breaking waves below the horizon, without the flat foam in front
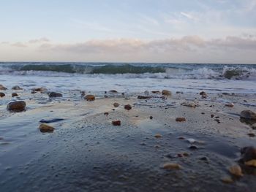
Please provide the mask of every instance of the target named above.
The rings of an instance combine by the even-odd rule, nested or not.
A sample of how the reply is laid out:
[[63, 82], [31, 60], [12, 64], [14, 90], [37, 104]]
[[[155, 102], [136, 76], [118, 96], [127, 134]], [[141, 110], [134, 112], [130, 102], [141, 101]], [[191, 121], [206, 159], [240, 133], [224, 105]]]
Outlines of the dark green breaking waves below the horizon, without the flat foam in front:
[[0, 74], [124, 78], [256, 80], [255, 65], [0, 63]]

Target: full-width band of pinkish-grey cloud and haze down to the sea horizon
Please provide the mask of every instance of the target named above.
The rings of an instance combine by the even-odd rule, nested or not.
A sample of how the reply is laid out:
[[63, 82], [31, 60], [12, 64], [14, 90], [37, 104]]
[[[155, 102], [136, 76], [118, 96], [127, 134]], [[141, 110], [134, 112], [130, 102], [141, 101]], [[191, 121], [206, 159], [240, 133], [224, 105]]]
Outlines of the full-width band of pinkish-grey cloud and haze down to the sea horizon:
[[[18, 47], [18, 50], [13, 46]], [[26, 47], [26, 49], [24, 48]], [[157, 40], [91, 39], [78, 43], [16, 42], [1, 45], [0, 60], [17, 61], [110, 61], [110, 62], [192, 62], [251, 63], [256, 61], [256, 37], [253, 34], [204, 39], [185, 36]], [[9, 54], [9, 57], [7, 55]]]

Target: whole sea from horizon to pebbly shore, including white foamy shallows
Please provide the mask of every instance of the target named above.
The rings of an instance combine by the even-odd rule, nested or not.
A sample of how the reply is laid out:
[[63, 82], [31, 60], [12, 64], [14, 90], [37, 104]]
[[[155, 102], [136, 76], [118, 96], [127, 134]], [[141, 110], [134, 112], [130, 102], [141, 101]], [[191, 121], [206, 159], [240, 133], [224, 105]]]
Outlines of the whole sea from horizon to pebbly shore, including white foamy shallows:
[[256, 93], [256, 64], [0, 62], [0, 84], [50, 91]]

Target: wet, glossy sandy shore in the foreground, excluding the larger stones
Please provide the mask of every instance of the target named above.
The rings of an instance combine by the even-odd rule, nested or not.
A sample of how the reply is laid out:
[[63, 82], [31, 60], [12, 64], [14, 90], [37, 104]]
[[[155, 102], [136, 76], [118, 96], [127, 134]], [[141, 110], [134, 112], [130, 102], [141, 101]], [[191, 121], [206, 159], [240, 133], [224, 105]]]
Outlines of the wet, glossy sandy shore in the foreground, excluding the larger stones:
[[[17, 100], [13, 92], [26, 101], [25, 112], [6, 110]], [[229, 172], [241, 148], [255, 146], [255, 122], [239, 115], [256, 111], [255, 94], [202, 99], [199, 93], [173, 93], [162, 99], [149, 93], [153, 98], [138, 99], [145, 93], [102, 91], [86, 101], [80, 91], [55, 99], [28, 90], [4, 93], [1, 191], [256, 191], [255, 168], [243, 169], [242, 177]], [[113, 107], [115, 102], [120, 105]], [[225, 106], [230, 102], [234, 107]], [[132, 110], [125, 110], [126, 104]], [[53, 118], [64, 120], [48, 123], [52, 133], [41, 133], [39, 120]], [[164, 169], [165, 164], [180, 169]]]

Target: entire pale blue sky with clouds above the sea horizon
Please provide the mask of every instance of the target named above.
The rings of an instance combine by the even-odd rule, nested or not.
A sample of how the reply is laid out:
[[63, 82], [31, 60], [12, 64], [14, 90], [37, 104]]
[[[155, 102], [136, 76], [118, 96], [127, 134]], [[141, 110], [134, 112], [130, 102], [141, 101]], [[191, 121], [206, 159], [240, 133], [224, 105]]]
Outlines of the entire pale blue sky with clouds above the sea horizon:
[[0, 61], [256, 64], [256, 0], [0, 0]]

